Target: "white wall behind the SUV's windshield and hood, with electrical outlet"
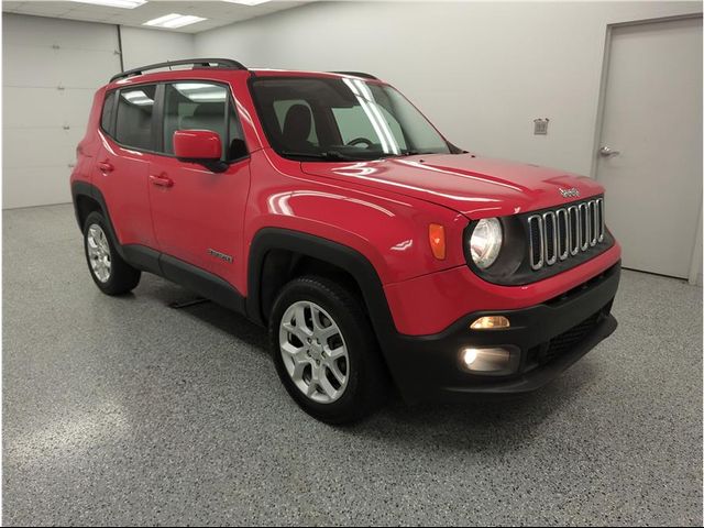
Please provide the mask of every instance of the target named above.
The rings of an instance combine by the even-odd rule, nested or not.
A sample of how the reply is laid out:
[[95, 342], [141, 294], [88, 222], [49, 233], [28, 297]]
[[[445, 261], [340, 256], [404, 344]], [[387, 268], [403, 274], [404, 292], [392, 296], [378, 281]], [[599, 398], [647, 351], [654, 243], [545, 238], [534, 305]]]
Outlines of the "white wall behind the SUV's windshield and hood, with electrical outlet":
[[[458, 145], [588, 174], [606, 24], [701, 2], [320, 2], [196, 34], [196, 54], [370, 72]], [[547, 136], [532, 120], [550, 118]]]

